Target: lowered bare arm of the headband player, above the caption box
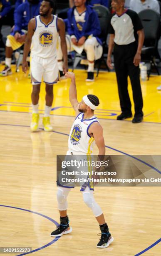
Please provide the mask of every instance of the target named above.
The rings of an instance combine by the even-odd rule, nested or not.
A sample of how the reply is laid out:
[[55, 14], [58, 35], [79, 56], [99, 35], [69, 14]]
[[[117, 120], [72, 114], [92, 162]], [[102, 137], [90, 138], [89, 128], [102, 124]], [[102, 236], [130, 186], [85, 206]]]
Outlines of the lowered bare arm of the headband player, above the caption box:
[[96, 145], [99, 149], [99, 155], [104, 156], [106, 152], [104, 137], [103, 137], [103, 128], [98, 122], [92, 123], [89, 127], [89, 135], [94, 137]]

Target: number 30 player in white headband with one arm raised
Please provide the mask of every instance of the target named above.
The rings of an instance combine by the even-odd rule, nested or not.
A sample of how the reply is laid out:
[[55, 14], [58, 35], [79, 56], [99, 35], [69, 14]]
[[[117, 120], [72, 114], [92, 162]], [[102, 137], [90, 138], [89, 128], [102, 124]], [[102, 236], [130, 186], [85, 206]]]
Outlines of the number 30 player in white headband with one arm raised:
[[[99, 149], [99, 155], [104, 155], [105, 145], [103, 129], [99, 124], [99, 120], [94, 115], [94, 110], [99, 105], [99, 99], [95, 95], [85, 95], [82, 98], [82, 101], [79, 103], [77, 101], [77, 89], [74, 73], [67, 72], [65, 76], [71, 79], [69, 100], [77, 115], [69, 134], [67, 155], [92, 154], [94, 141]], [[75, 136], [72, 136], [73, 134], [78, 135], [77, 141], [79, 141], [79, 143], [74, 143]], [[58, 181], [57, 186], [57, 202], [60, 213], [60, 225], [51, 233], [52, 237], [62, 236], [72, 231], [72, 228], [69, 226], [69, 218], [67, 216], [67, 196], [71, 188], [61, 186]], [[92, 188], [90, 184], [86, 184], [85, 186], [83, 185], [81, 187], [83, 200], [85, 204], [92, 209], [102, 232], [97, 247], [105, 248], [109, 246], [114, 238], [109, 233], [109, 228], [105, 222], [104, 214], [101, 208], [94, 200], [93, 190], [94, 188]]]

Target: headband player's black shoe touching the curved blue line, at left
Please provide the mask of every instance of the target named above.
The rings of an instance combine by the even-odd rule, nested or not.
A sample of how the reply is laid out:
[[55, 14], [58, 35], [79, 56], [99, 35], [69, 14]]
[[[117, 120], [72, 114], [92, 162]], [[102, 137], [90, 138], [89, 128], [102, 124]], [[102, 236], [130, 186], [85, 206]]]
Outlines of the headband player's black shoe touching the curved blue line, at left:
[[70, 232], [72, 232], [72, 228], [69, 227], [68, 217], [65, 217], [63, 219], [60, 217], [60, 225], [57, 226], [56, 230], [52, 231], [50, 236], [52, 237], [62, 236]]

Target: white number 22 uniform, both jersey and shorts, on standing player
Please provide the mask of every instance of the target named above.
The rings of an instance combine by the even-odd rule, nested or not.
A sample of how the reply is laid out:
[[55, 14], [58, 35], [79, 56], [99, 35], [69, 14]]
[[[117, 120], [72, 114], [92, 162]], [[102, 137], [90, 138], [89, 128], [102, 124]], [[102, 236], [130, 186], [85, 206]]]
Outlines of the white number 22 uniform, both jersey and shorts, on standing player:
[[42, 77], [47, 84], [53, 84], [58, 79], [57, 65], [57, 16], [49, 24], [41, 21], [41, 16], [35, 17], [35, 32], [32, 36], [30, 72], [32, 84], [40, 84]]

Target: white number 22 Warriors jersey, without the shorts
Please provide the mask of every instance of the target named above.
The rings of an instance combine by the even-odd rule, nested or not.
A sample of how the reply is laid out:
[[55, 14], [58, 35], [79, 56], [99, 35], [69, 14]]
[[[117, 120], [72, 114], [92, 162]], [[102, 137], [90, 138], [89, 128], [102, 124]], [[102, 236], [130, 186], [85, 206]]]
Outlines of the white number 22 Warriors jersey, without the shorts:
[[52, 21], [47, 25], [40, 18], [40, 15], [35, 17], [36, 28], [32, 36], [31, 53], [46, 59], [57, 55], [57, 16], [53, 15]]

